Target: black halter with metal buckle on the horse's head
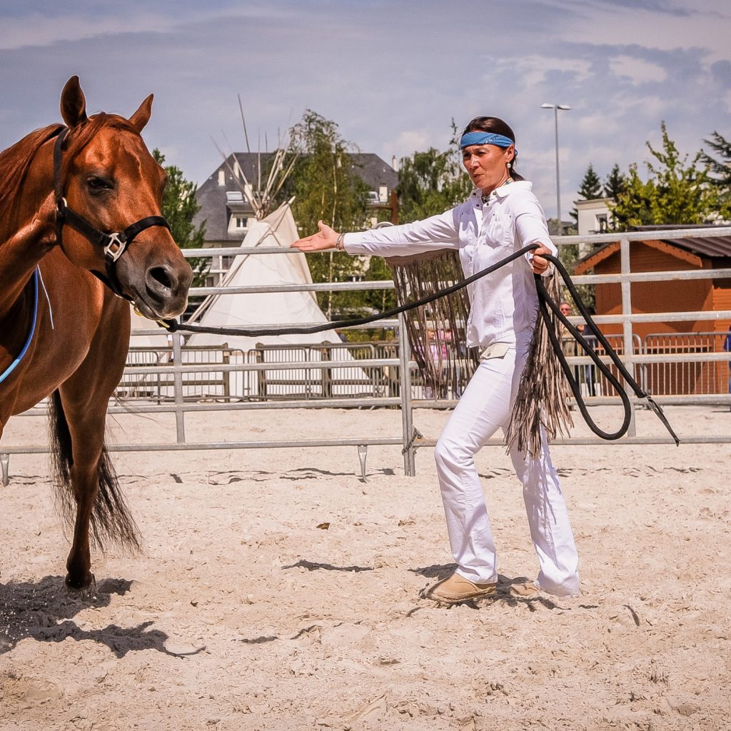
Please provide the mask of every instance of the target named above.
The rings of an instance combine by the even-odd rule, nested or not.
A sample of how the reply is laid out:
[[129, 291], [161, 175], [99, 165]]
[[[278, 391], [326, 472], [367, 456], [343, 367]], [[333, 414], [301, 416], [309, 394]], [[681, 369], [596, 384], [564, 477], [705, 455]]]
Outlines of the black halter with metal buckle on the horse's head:
[[132, 298], [122, 292], [121, 284], [117, 279], [115, 264], [118, 258], [126, 251], [127, 245], [132, 243], [132, 240], [135, 239], [138, 233], [151, 226], [164, 226], [167, 230], [170, 230], [170, 224], [162, 216], [146, 216], [144, 219], [140, 219], [131, 226], [126, 227], [124, 231], [105, 233], [92, 226], [83, 216], [80, 216], [76, 211], [69, 208], [66, 198], [64, 198], [63, 182], [61, 181], [61, 147], [64, 144], [64, 138], [68, 131], [68, 127], [61, 129], [53, 147], [53, 189], [56, 194], [56, 240], [58, 240], [60, 246], [64, 225], [68, 224], [81, 235], [85, 236], [95, 246], [101, 246], [104, 249], [106, 274], [102, 274], [93, 269], [91, 273], [97, 279], [103, 281], [115, 295], [132, 302]]

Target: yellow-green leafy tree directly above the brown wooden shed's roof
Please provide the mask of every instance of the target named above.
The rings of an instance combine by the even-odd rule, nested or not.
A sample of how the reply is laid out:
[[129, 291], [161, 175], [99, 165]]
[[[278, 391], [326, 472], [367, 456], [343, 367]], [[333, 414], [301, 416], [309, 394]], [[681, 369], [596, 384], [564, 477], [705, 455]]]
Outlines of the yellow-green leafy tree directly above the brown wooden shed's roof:
[[618, 230], [635, 226], [663, 224], [702, 224], [713, 219], [719, 209], [719, 195], [711, 185], [708, 165], [699, 167], [702, 153], [690, 164], [681, 156], [667, 135], [664, 122], [662, 148], [647, 147], [653, 160], [646, 162], [648, 179], [643, 181], [637, 164], [629, 166], [629, 178], [624, 192], [618, 194], [613, 210]]

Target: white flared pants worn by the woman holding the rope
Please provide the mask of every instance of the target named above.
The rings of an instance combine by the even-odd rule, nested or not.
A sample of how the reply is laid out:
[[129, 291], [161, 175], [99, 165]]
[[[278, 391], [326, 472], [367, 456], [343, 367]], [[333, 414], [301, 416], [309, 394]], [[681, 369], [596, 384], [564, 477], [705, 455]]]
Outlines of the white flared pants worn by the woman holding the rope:
[[[507, 428], [525, 360], [524, 354], [516, 358], [515, 346], [503, 357], [482, 360], [434, 451], [452, 556], [458, 573], [474, 583], [491, 583], [498, 577], [495, 542], [474, 455], [499, 427]], [[539, 458], [526, 458], [515, 448], [510, 458], [523, 484], [538, 554], [537, 583], [550, 594], [566, 596], [579, 591], [579, 561], [545, 433], [542, 442]]]

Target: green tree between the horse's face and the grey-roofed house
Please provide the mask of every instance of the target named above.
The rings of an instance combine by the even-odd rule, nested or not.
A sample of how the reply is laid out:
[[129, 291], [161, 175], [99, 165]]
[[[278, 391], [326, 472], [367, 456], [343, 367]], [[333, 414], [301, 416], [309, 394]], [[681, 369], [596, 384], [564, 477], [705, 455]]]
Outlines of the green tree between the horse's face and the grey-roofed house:
[[[200, 211], [195, 200], [197, 185], [183, 177], [183, 171], [175, 165], [165, 165], [165, 156], [157, 148], [152, 156], [167, 173], [167, 185], [162, 194], [162, 215], [170, 224], [170, 233], [181, 249], [202, 249], [205, 238], [205, 221], [195, 227], [193, 219]], [[211, 268], [211, 260], [205, 257], [189, 259], [193, 269], [193, 286], [202, 287]]]

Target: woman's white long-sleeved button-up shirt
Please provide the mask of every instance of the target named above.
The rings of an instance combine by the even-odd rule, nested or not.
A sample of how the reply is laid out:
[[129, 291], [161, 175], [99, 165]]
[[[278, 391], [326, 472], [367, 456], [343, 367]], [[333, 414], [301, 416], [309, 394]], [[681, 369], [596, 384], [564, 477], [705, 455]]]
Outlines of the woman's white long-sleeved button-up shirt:
[[[554, 256], [557, 253], [543, 209], [528, 181], [507, 183], [484, 203], [482, 192], [474, 190], [465, 202], [439, 216], [347, 233], [343, 238], [349, 254], [395, 257], [456, 249], [466, 277], [530, 243], [545, 244]], [[521, 340], [530, 337], [538, 307], [531, 259], [529, 252], [525, 260], [514, 260], [467, 287], [471, 303], [466, 324], [468, 346], [492, 349], [496, 343], [514, 344], [518, 335], [523, 336]]]

